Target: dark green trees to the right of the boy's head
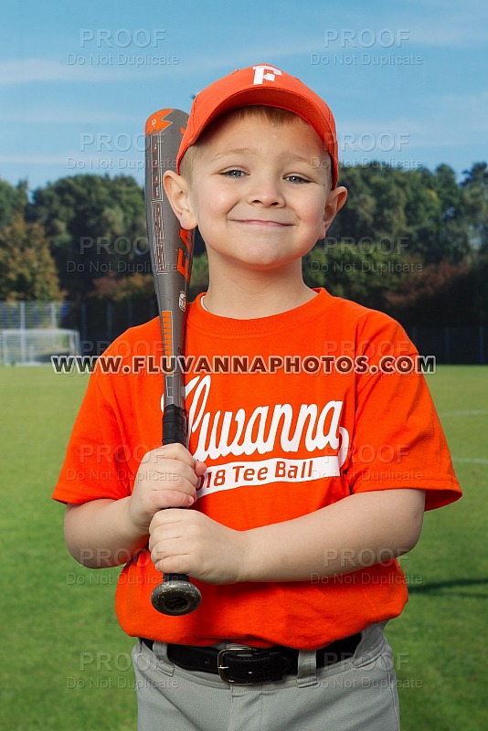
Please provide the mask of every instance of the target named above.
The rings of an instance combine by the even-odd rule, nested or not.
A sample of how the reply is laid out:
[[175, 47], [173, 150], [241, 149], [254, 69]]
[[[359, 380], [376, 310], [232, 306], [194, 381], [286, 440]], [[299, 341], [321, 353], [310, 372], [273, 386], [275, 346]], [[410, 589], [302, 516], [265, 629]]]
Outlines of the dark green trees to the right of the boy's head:
[[341, 170], [347, 203], [303, 260], [310, 286], [404, 324], [488, 322], [488, 168]]

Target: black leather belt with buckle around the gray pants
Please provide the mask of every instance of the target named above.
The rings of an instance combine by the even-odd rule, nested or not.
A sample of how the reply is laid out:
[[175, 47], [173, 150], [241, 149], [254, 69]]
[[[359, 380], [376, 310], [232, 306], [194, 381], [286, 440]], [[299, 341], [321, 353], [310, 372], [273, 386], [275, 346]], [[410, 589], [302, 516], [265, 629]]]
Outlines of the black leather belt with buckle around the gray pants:
[[[334, 665], [354, 655], [361, 640], [361, 633], [336, 640], [317, 650], [317, 668]], [[143, 642], [150, 650], [154, 641]], [[197, 670], [220, 675], [226, 683], [265, 683], [281, 680], [283, 675], [298, 671], [298, 650], [277, 645], [266, 648], [235, 645], [225, 650], [215, 647], [194, 647], [191, 645], [167, 646], [168, 658], [184, 670]]]

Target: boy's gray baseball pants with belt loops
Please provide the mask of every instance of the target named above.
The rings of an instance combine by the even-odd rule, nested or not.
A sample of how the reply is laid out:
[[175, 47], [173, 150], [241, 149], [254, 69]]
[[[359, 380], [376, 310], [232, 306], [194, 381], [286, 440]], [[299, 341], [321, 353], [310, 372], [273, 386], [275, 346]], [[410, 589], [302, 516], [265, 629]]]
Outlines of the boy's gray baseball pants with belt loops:
[[397, 680], [383, 628], [362, 632], [354, 657], [316, 669], [300, 652], [298, 673], [280, 682], [229, 685], [186, 671], [166, 645], [133, 648], [138, 731], [398, 731]]

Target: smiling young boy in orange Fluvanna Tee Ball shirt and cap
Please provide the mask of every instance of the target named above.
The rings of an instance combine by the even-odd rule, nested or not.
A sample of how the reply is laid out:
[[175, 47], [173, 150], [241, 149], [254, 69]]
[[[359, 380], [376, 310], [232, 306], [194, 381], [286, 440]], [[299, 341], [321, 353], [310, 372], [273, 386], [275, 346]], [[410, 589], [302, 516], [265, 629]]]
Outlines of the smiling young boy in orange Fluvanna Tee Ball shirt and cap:
[[[209, 265], [188, 449], [159, 446], [162, 376], [91, 376], [54, 493], [69, 551], [126, 563], [143, 731], [398, 729], [396, 556], [461, 491], [398, 323], [302, 280], [345, 204], [334, 118], [281, 69], [237, 70], [196, 97], [177, 164], [165, 191]], [[109, 354], [161, 355], [157, 319]], [[188, 574], [201, 606], [155, 611], [159, 572]]]

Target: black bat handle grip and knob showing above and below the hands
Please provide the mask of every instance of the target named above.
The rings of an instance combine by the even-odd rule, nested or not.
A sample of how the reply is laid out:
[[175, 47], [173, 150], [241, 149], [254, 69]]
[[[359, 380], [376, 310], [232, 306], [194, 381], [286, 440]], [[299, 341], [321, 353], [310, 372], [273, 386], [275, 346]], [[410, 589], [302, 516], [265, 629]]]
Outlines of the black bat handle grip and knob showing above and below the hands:
[[[169, 404], [164, 408], [163, 444], [183, 444], [186, 446], [186, 411], [184, 408]], [[151, 595], [154, 609], [162, 614], [181, 616], [199, 607], [202, 597], [186, 574], [164, 574], [163, 581]]]

